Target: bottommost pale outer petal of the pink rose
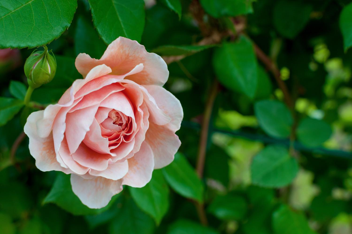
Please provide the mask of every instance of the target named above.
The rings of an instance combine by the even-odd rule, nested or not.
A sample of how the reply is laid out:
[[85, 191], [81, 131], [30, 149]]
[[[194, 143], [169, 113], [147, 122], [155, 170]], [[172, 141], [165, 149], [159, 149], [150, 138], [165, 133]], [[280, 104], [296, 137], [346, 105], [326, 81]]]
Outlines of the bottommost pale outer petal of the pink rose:
[[111, 197], [122, 191], [121, 180], [111, 180], [104, 177], [83, 179], [81, 176], [71, 174], [73, 192], [89, 208], [105, 207]]

